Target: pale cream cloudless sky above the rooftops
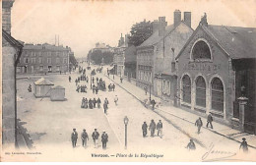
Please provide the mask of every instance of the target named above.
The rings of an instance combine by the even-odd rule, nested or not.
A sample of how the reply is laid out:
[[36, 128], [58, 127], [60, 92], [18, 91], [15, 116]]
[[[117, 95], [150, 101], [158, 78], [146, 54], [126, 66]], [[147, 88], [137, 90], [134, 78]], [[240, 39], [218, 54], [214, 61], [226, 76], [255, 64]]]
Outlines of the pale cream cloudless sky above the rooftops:
[[77, 58], [86, 57], [96, 42], [116, 46], [121, 33], [146, 19], [173, 12], [192, 12], [192, 28], [204, 13], [210, 25], [256, 27], [256, 0], [16, 0], [12, 8], [12, 35], [26, 43], [70, 46]]

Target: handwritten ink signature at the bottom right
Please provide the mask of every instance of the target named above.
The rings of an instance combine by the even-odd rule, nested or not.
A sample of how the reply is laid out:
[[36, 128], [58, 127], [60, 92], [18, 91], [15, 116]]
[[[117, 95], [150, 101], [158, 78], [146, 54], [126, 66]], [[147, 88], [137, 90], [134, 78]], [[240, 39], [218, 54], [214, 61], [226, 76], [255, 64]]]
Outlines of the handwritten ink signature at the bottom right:
[[[203, 161], [221, 161], [221, 160], [225, 160], [226, 158], [229, 159], [230, 157], [236, 155], [235, 152], [215, 150], [214, 146], [215, 145], [213, 143], [210, 144], [209, 150], [202, 156]], [[217, 157], [217, 158], [207, 159], [210, 156]]]

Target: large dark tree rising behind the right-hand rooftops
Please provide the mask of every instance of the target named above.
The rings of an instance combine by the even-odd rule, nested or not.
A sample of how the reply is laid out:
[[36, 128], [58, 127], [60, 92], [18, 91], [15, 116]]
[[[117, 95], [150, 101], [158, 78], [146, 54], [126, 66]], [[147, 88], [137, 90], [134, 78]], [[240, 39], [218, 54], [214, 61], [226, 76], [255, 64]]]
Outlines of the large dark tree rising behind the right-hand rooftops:
[[150, 21], [146, 22], [146, 20], [144, 20], [141, 23], [133, 25], [130, 32], [129, 44], [139, 46], [152, 35], [152, 24]]

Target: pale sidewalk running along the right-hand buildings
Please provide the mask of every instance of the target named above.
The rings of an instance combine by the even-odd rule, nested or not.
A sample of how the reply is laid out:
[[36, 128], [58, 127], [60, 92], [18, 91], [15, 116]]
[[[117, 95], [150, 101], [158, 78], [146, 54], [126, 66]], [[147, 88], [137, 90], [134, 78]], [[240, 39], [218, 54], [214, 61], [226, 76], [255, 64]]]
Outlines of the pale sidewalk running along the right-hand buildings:
[[[106, 78], [108, 78], [106, 76]], [[131, 95], [133, 95], [136, 99], [138, 99], [141, 103], [145, 104], [145, 101], [147, 99], [149, 99], [149, 93], [146, 95], [144, 89], [136, 86], [135, 84], [129, 83], [126, 80], [123, 80], [123, 83], [120, 83], [120, 77], [115, 76], [115, 79], [113, 80], [112, 77], [110, 76], [108, 78], [109, 80], [111, 80], [112, 82], [116, 83], [117, 85], [119, 85], [120, 87], [122, 87], [123, 89], [125, 89], [128, 93], [130, 93]], [[162, 104], [162, 100], [159, 97], [154, 96], [153, 94], [151, 95], [152, 99], [155, 99], [157, 102], [157, 108], [155, 110], [155, 112], [157, 114], [161, 114], [161, 115], [166, 115], [166, 116], [173, 116], [175, 118], [178, 118], [180, 120], [186, 121], [188, 123], [190, 123], [191, 125], [194, 125], [195, 121], [198, 119], [198, 115], [187, 112], [183, 109], [180, 108], [176, 108], [173, 106], [167, 106]], [[160, 103], [160, 104], [158, 104]], [[159, 107], [158, 107], [159, 105]], [[164, 116], [165, 116], [164, 115]], [[203, 129], [206, 129], [208, 131], [211, 131], [217, 135], [223, 136], [224, 138], [229, 138], [232, 139], [236, 142], [241, 141], [241, 138], [246, 138], [248, 145], [254, 149], [256, 149], [256, 136], [254, 135], [250, 135], [247, 133], [243, 133], [234, 129], [231, 129], [227, 126], [224, 126], [222, 124], [216, 123], [214, 122], [214, 129], [207, 129], [205, 127], [206, 125], [206, 118], [201, 117], [204, 123], [204, 127]]]

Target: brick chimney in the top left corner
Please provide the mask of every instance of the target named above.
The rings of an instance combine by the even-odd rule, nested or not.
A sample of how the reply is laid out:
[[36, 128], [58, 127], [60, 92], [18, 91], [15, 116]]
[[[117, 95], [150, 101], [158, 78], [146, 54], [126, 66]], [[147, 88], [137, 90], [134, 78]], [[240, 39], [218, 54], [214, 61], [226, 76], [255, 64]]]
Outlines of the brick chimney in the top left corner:
[[3, 0], [2, 2], [2, 28], [11, 34], [11, 8], [14, 0]]

